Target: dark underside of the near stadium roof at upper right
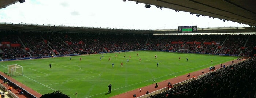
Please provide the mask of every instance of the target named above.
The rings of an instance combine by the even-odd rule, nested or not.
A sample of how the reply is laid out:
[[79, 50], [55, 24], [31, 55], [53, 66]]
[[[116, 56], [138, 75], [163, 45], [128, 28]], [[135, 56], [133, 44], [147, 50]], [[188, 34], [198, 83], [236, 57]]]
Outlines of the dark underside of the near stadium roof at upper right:
[[[126, 0], [123, 0], [126, 1]], [[130, 1], [130, 0], [129, 0]], [[255, 0], [131, 0], [256, 26]]]

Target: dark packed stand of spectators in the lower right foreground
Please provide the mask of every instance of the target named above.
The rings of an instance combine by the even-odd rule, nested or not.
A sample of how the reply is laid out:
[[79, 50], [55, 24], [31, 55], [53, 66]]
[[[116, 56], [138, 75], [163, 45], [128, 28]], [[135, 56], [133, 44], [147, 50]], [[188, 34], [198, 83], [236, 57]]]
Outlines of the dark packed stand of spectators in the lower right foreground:
[[150, 98], [255, 98], [255, 64], [253, 57]]

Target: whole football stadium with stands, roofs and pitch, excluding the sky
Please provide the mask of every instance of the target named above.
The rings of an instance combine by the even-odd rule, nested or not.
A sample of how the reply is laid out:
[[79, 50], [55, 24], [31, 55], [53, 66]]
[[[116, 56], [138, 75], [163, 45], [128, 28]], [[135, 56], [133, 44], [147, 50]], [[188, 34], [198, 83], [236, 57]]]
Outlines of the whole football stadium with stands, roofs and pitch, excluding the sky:
[[[0, 98], [256, 97], [255, 3], [119, 1], [248, 26], [142, 30], [0, 22]], [[0, 10], [15, 3], [26, 1], [3, 0]]]

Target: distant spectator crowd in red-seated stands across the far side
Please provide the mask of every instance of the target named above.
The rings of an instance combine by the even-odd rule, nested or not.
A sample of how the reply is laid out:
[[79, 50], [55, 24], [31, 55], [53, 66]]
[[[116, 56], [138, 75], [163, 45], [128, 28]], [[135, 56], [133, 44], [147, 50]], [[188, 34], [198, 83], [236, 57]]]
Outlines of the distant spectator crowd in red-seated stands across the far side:
[[[249, 56], [255, 35], [141, 35], [106, 33], [7, 32], [0, 36], [2, 59], [67, 54], [93, 54], [122, 50], [160, 50]], [[208, 43], [208, 44], [205, 44]], [[210, 43], [210, 44], [209, 44]]]

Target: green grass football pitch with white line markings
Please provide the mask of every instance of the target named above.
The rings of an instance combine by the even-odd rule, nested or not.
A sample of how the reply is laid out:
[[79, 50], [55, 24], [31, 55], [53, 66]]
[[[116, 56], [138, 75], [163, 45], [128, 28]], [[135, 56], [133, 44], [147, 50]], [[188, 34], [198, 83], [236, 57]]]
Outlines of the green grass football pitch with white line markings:
[[[13, 78], [42, 95], [60, 90], [71, 98], [76, 98], [76, 92], [77, 98], [108, 98], [150, 85], [153, 80], [161, 82], [175, 76], [209, 68], [211, 60], [213, 60], [213, 65], [219, 65], [236, 59], [233, 56], [133, 51], [120, 52], [120, 54], [118, 52], [104, 53], [100, 61], [101, 55], [72, 56], [71, 60], [70, 56], [66, 56], [4, 61], [0, 62], [0, 71], [4, 72], [4, 69], [5, 72], [8, 71], [7, 65], [21, 65], [24, 75]], [[129, 59], [128, 63], [127, 59]], [[123, 62], [123, 67], [121, 67], [121, 62]], [[113, 68], [112, 63], [114, 63]], [[157, 63], [159, 63], [158, 67]], [[52, 64], [51, 68], [49, 64]], [[108, 94], [110, 83], [112, 91]]]

